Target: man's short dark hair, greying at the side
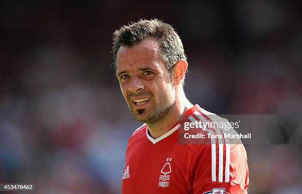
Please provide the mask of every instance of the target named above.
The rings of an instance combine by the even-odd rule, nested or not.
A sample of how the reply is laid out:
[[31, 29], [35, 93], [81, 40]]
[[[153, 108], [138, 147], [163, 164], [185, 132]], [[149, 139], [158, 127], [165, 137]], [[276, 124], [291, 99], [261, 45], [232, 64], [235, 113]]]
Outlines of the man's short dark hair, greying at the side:
[[140, 19], [136, 23], [123, 26], [113, 33], [113, 59], [116, 71], [116, 55], [121, 46], [132, 46], [146, 38], [154, 38], [159, 43], [160, 55], [169, 72], [180, 59], [187, 60], [182, 40], [170, 24], [158, 19]]

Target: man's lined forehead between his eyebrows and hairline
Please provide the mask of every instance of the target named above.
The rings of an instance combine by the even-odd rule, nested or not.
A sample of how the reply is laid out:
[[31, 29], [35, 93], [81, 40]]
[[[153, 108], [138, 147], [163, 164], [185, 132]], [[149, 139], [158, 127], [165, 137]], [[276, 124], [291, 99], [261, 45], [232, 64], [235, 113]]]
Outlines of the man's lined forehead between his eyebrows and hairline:
[[116, 56], [116, 71], [128, 71], [129, 68], [162, 66], [159, 44], [155, 39], [144, 39], [131, 47], [121, 46]]

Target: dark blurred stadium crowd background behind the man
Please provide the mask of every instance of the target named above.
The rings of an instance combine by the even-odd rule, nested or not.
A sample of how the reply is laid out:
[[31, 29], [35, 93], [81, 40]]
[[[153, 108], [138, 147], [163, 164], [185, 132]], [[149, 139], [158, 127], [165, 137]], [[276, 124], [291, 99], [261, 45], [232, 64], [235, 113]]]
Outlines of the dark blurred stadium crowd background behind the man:
[[[37, 194], [120, 193], [127, 141], [142, 123], [111, 66], [112, 33], [139, 18], [179, 33], [193, 104], [302, 114], [299, 0], [1, 0], [0, 183], [35, 183]], [[302, 194], [302, 145], [246, 150], [249, 194]]]

